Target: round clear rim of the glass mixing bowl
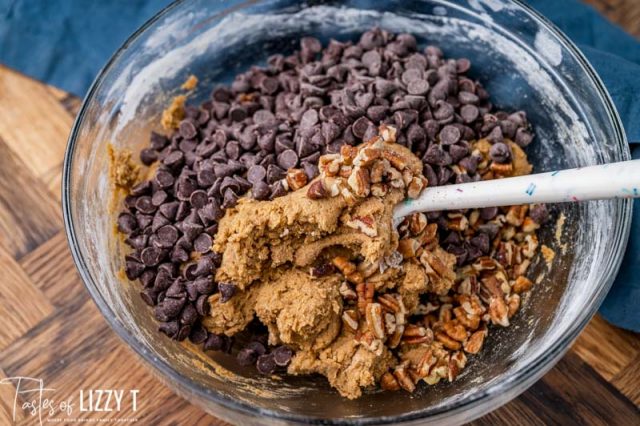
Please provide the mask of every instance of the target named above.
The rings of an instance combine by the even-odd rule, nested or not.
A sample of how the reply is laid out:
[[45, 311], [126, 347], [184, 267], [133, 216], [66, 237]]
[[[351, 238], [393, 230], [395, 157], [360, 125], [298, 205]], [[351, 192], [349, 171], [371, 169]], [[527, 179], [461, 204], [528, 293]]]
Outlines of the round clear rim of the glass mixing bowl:
[[[405, 413], [396, 416], [380, 416], [380, 417], [369, 417], [369, 418], [353, 418], [353, 419], [331, 419], [331, 418], [321, 418], [321, 417], [309, 417], [304, 414], [291, 414], [283, 411], [275, 411], [264, 408], [256, 408], [250, 404], [240, 402], [238, 400], [234, 400], [232, 398], [221, 395], [215, 391], [215, 389], [207, 388], [204, 386], [200, 386], [195, 382], [188, 380], [183, 375], [179, 374], [174, 370], [170, 363], [165, 362], [164, 360], [153, 357], [147, 350], [145, 350], [142, 345], [139, 343], [138, 339], [131, 334], [123, 325], [116, 319], [114, 312], [111, 309], [111, 306], [108, 305], [103, 297], [97, 291], [95, 284], [93, 283], [93, 279], [88, 272], [88, 268], [86, 267], [86, 263], [83, 257], [83, 253], [79, 250], [78, 239], [74, 231], [74, 218], [72, 214], [71, 208], [71, 170], [72, 170], [72, 162], [73, 162], [73, 154], [76, 148], [76, 142], [78, 140], [78, 134], [81, 125], [86, 118], [88, 105], [94, 100], [94, 96], [101, 82], [105, 78], [105, 76], [109, 73], [111, 66], [120, 58], [123, 52], [145, 31], [153, 26], [156, 22], [160, 21], [167, 15], [169, 15], [174, 9], [182, 5], [183, 3], [189, 0], [176, 0], [171, 4], [162, 8], [159, 12], [157, 12], [152, 18], [146, 21], [140, 28], [138, 28], [133, 34], [131, 34], [118, 48], [118, 50], [111, 56], [111, 58], [107, 61], [107, 63], [101, 68], [96, 78], [92, 82], [87, 94], [85, 95], [80, 111], [76, 116], [76, 119], [73, 123], [73, 127], [71, 129], [67, 147], [64, 155], [63, 169], [62, 169], [62, 183], [61, 183], [61, 192], [62, 192], [62, 211], [63, 211], [63, 219], [65, 226], [65, 233], [67, 235], [67, 242], [69, 244], [69, 248], [73, 257], [73, 261], [76, 265], [76, 269], [78, 270], [80, 277], [82, 279], [83, 284], [88, 290], [93, 302], [96, 304], [100, 313], [109, 324], [109, 326], [116, 332], [118, 337], [122, 339], [128, 347], [130, 347], [139, 357], [141, 357], [145, 364], [151, 366], [154, 370], [158, 371], [161, 375], [164, 375], [170, 379], [171, 382], [176, 383], [181, 390], [187, 390], [192, 394], [195, 394], [198, 398], [203, 400], [212, 400], [215, 404], [222, 405], [226, 409], [230, 409], [232, 411], [240, 412], [243, 415], [249, 415], [252, 417], [258, 415], [264, 415], [271, 417], [276, 420], [290, 421], [290, 422], [304, 422], [310, 424], [357, 424], [357, 425], [365, 425], [365, 424], [389, 424], [389, 423], [400, 423], [400, 422], [411, 422], [420, 419], [425, 419], [425, 413], [422, 411]], [[578, 49], [578, 47], [562, 32], [558, 29], [551, 21], [545, 18], [541, 13], [524, 3], [522, 0], [507, 0], [511, 1], [516, 6], [520, 7], [523, 12], [527, 13], [530, 18], [534, 21], [537, 21], [539, 25], [548, 30], [553, 36], [556, 37], [556, 41], [560, 42], [563, 47], [569, 50], [577, 63], [581, 66], [582, 71], [587, 75], [588, 78], [591, 79], [593, 85], [596, 88], [602, 102], [608, 113], [608, 121], [610, 122], [612, 129], [615, 134], [617, 134], [617, 142], [618, 148], [620, 149], [620, 153], [625, 160], [631, 158], [629, 152], [629, 146], [627, 143], [626, 135], [624, 132], [624, 128], [622, 125], [622, 121], [620, 116], [613, 104], [613, 101], [605, 88], [602, 80], [594, 70], [593, 66], [586, 59], [584, 54]], [[246, 0], [241, 5], [237, 5], [235, 8], [242, 7], [244, 5], [254, 3], [254, 0]], [[222, 13], [226, 13], [227, 9], [224, 9]], [[629, 238], [629, 232], [631, 227], [631, 215], [632, 215], [632, 200], [623, 199], [617, 200], [620, 205], [621, 215], [619, 217], [619, 232], [613, 236], [614, 243], [616, 244], [617, 254], [623, 253]], [[616, 254], [616, 253], [614, 253]], [[550, 370], [555, 363], [560, 359], [561, 356], [565, 354], [565, 352], [569, 349], [570, 344], [577, 338], [578, 334], [584, 329], [587, 323], [591, 320], [593, 315], [595, 315], [598, 307], [604, 301], [605, 296], [607, 295], [617, 271], [622, 262], [622, 256], [613, 256], [613, 262], [609, 263], [609, 273], [606, 276], [606, 279], [602, 281], [600, 288], [596, 293], [596, 297], [594, 297], [590, 304], [587, 305], [588, 309], [584, 310], [584, 313], [581, 317], [578, 317], [576, 321], [572, 323], [572, 325], [567, 329], [567, 334], [563, 339], [554, 342], [549, 351], [544, 354], [539, 355], [537, 358], [534, 358], [532, 362], [527, 366], [527, 368], [523, 368], [519, 371], [513, 373], [512, 376], [506, 378], [504, 381], [497, 383], [490, 387], [489, 389], [483, 390], [481, 392], [477, 392], [474, 394], [469, 394], [463, 398], [456, 400], [448, 406], [439, 407], [429, 414], [429, 419], [431, 420], [441, 420], [447, 416], [452, 416], [455, 414], [462, 413], [463, 410], [469, 410], [479, 407], [486, 397], [495, 395], [498, 393], [506, 393], [509, 391], [513, 392], [513, 396], [501, 401], [499, 405], [494, 405], [490, 410], [497, 409], [499, 406], [505, 404], [506, 402], [514, 399], [517, 395], [524, 392], [530, 385], [532, 385], [535, 381], [537, 381], [544, 373]], [[191, 401], [189, 401], [191, 402]], [[480, 410], [475, 412], [473, 417], [466, 418], [467, 421], [472, 420], [472, 418], [477, 418], [483, 414], [486, 414], [490, 410]]]

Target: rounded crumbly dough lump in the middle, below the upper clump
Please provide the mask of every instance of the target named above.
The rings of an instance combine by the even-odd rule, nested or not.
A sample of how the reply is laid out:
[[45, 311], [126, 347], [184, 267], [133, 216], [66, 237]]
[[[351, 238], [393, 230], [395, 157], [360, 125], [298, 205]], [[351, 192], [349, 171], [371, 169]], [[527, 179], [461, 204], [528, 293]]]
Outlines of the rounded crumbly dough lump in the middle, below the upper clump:
[[269, 343], [322, 349], [340, 332], [342, 298], [338, 274], [313, 279], [293, 268], [260, 286], [256, 313], [269, 328]]

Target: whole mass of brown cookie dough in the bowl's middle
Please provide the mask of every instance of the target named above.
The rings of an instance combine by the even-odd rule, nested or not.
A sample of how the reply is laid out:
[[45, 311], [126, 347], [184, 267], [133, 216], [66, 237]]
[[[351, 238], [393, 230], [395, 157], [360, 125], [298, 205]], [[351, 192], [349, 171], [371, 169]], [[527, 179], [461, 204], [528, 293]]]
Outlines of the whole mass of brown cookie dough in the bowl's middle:
[[[405, 158], [414, 175], [422, 173], [422, 163], [407, 148], [390, 144], [385, 149]], [[232, 335], [255, 314], [268, 327], [269, 343], [296, 350], [290, 374], [322, 374], [343, 396], [357, 398], [362, 388], [373, 386], [397, 360], [386, 346], [372, 350], [343, 326], [339, 292], [343, 276], [312, 278], [309, 268], [340, 250], [359, 255], [362, 264], [386, 264], [367, 281], [377, 289], [395, 289], [410, 314], [420, 294], [449, 290], [455, 278], [451, 270], [455, 256], [437, 247], [424, 254], [428, 257], [424, 261], [433, 268], [410, 262], [400, 266], [392, 220], [395, 205], [405, 196], [403, 190], [391, 189], [384, 197], [365, 197], [350, 204], [342, 196], [312, 200], [307, 189], [268, 202], [244, 198], [226, 211], [213, 245], [214, 251], [222, 253], [216, 281], [232, 282], [240, 291], [223, 304], [212, 296], [211, 317], [204, 325], [212, 332]], [[371, 219], [364, 231], [354, 226], [363, 218]], [[394, 254], [400, 256], [398, 265], [387, 261]]]

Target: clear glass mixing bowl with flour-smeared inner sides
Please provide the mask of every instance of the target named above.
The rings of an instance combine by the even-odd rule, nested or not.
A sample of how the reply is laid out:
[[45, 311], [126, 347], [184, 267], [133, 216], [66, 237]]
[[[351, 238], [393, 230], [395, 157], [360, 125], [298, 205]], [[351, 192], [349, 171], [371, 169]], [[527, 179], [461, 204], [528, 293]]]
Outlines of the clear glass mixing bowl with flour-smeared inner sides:
[[[372, 27], [409, 32], [450, 57], [472, 60], [503, 108], [524, 109], [536, 131], [537, 171], [629, 159], [616, 111], [576, 47], [549, 22], [509, 0], [211, 1], [172, 4], [136, 32], [94, 82], [69, 140], [63, 180], [71, 250], [95, 303], [116, 333], [168, 386], [223, 419], [287, 422], [401, 423], [469, 421], [538, 380], [564, 354], [605, 297], [626, 245], [629, 200], [558, 206], [567, 219], [566, 252], [553, 230], [542, 243], [558, 256], [507, 329], [454, 383], [404, 392], [367, 393], [348, 401], [318, 377], [272, 380], [213, 358], [156, 331], [138, 285], [122, 282], [122, 256], [107, 208], [107, 143], [136, 150], [159, 127], [159, 115], [187, 75], [200, 84], [193, 102], [217, 82], [290, 51], [303, 35], [349, 39]], [[533, 272], [545, 272], [543, 262]]]

